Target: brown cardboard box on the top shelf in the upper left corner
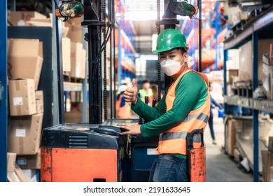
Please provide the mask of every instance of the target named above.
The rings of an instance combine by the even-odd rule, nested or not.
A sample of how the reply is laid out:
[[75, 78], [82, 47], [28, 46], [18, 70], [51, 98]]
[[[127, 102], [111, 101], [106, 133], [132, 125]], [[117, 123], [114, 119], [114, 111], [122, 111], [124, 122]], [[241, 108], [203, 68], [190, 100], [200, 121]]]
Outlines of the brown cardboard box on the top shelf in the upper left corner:
[[31, 20], [31, 18], [46, 19], [46, 16], [36, 11], [11, 11], [8, 22], [12, 26], [18, 26], [18, 22], [22, 24]]

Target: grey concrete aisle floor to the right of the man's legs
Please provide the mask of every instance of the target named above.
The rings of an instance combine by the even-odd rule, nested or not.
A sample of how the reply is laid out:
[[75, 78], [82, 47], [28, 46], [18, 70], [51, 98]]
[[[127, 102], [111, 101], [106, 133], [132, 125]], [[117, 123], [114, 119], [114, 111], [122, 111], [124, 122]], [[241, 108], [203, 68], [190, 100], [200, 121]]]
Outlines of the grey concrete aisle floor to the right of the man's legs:
[[204, 132], [204, 141], [206, 144], [206, 167], [208, 182], [252, 182], [251, 172], [245, 172], [244, 168], [236, 163], [230, 155], [225, 153], [223, 146], [225, 144], [224, 125], [219, 119], [214, 123], [214, 132], [217, 144], [212, 144], [209, 126]]

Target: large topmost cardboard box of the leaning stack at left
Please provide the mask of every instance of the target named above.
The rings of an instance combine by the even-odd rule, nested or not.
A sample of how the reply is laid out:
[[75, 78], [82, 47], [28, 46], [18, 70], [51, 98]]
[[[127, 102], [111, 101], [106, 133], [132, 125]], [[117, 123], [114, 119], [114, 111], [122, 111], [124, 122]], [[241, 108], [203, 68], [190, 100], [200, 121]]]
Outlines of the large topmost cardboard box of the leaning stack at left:
[[[26, 50], [27, 48], [27, 50]], [[43, 43], [38, 39], [8, 39], [8, 78], [34, 79], [35, 90], [43, 66]]]

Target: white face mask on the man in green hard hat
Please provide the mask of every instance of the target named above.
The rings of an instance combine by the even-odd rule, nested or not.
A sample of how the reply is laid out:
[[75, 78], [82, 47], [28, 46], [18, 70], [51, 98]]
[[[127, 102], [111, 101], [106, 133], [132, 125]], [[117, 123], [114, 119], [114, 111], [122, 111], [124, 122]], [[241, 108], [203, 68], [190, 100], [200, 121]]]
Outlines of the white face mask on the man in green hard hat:
[[[181, 58], [183, 59], [183, 57]], [[176, 73], [179, 73], [182, 65], [180, 64], [181, 60], [179, 62], [172, 60], [172, 59], [165, 59], [162, 62], [160, 62], [160, 66], [162, 68], [162, 71], [167, 76], [173, 76]], [[184, 63], [183, 63], [184, 64]]]

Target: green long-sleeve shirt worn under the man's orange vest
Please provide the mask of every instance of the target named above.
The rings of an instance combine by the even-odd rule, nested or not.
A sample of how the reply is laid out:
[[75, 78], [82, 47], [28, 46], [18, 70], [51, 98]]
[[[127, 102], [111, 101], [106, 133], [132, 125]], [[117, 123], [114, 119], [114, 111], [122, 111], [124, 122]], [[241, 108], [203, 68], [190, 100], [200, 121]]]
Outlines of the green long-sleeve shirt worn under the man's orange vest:
[[179, 125], [190, 111], [202, 106], [208, 96], [204, 79], [193, 71], [189, 71], [179, 80], [176, 85], [174, 105], [168, 112], [165, 103], [167, 90], [155, 108], [148, 106], [141, 99], [137, 99], [137, 103], [131, 106], [135, 113], [148, 121], [140, 127], [144, 137], [159, 135]]

